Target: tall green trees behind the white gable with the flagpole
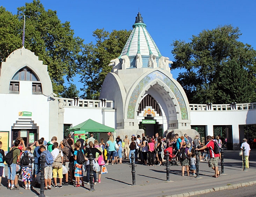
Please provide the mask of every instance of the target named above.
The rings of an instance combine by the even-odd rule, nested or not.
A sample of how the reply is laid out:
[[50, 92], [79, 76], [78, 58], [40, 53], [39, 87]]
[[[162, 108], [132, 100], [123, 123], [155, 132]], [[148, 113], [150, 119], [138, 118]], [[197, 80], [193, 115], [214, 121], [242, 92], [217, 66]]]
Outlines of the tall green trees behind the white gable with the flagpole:
[[77, 59], [83, 40], [74, 37], [70, 23], [61, 23], [56, 11], [46, 11], [40, 0], [25, 3], [25, 6], [17, 10], [17, 15], [12, 15], [3, 7], [0, 8], [0, 35], [7, 32], [0, 38], [1, 60], [5, 60], [15, 49], [21, 48], [23, 18], [26, 15], [24, 46], [48, 65], [53, 91], [61, 94], [64, 91], [64, 78], [68, 82], [72, 81], [77, 73]]

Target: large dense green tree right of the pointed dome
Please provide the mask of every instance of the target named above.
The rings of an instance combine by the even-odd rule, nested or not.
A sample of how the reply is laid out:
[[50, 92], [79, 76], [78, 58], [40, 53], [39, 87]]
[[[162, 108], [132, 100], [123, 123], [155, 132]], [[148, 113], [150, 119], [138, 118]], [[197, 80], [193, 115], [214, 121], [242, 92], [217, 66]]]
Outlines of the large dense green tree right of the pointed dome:
[[256, 51], [239, 42], [231, 25], [203, 30], [189, 43], [175, 40], [172, 69], [183, 68], [177, 81], [189, 103], [255, 102]]

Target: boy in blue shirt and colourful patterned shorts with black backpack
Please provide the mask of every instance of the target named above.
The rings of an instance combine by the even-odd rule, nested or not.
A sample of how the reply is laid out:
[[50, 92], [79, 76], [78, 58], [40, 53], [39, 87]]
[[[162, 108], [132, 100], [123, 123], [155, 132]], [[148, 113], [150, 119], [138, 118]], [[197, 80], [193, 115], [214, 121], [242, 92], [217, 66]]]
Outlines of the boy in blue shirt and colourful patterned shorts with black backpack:
[[83, 173], [83, 163], [86, 160], [84, 156], [84, 150], [80, 149], [81, 142], [77, 141], [75, 143], [76, 150], [74, 151], [74, 165], [75, 165], [75, 178], [76, 178], [76, 186], [80, 187], [80, 177], [81, 177], [81, 186], [84, 186], [84, 173]]

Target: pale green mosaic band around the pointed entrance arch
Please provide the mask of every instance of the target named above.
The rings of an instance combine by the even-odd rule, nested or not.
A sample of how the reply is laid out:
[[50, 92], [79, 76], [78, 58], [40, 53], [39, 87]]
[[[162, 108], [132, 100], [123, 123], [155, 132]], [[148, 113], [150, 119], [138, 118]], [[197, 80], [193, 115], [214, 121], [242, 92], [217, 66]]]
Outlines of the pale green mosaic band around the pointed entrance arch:
[[186, 103], [183, 99], [183, 96], [180, 90], [177, 88], [175, 83], [173, 83], [173, 81], [169, 79], [169, 77], [167, 77], [165, 74], [161, 73], [160, 71], [151, 72], [150, 74], [145, 76], [142, 80], [140, 80], [140, 82], [137, 84], [129, 100], [127, 118], [134, 119], [135, 106], [141, 91], [145, 88], [146, 85], [148, 85], [149, 83], [151, 83], [151, 81], [155, 79], [160, 79], [164, 83], [166, 83], [167, 86], [169, 86], [169, 88], [172, 90], [172, 92], [174, 93], [179, 103], [182, 120], [188, 120]]

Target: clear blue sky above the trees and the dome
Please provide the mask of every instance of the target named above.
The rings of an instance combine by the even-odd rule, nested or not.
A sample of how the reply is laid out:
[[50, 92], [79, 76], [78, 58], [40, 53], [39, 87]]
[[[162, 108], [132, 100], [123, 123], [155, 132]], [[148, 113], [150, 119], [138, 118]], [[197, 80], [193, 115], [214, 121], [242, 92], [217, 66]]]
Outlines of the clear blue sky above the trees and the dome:
[[[32, 0], [0, 0], [0, 6], [17, 13], [17, 7]], [[239, 27], [240, 41], [256, 49], [256, 0], [41, 0], [44, 8], [57, 11], [70, 21], [75, 36], [94, 41], [96, 29], [132, 29], [140, 11], [147, 30], [163, 56], [173, 60], [173, 40], [189, 41], [204, 29], [231, 24]], [[25, 46], [26, 47], [26, 46]], [[177, 78], [179, 70], [172, 71]], [[79, 87], [80, 85], [77, 84]]]

